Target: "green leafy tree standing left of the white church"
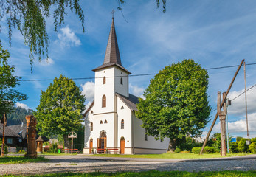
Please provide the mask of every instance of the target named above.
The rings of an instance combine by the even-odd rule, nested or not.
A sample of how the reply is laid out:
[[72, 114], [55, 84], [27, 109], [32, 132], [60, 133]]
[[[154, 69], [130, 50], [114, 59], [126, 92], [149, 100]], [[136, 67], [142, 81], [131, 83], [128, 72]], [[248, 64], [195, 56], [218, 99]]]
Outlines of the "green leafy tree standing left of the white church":
[[85, 100], [74, 81], [62, 75], [55, 77], [53, 84], [41, 91], [40, 103], [34, 113], [40, 134], [62, 135], [65, 147], [69, 147], [68, 134], [80, 129]]

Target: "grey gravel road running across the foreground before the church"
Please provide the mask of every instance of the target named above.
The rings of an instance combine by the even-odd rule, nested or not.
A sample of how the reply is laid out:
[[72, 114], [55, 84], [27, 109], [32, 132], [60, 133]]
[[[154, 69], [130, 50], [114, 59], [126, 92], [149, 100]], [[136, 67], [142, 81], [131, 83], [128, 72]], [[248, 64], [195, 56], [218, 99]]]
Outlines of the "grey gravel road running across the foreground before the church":
[[230, 159], [120, 159], [92, 156], [46, 156], [49, 162], [0, 164], [0, 174], [44, 174], [63, 172], [117, 172], [145, 170], [219, 171], [256, 170], [256, 156]]

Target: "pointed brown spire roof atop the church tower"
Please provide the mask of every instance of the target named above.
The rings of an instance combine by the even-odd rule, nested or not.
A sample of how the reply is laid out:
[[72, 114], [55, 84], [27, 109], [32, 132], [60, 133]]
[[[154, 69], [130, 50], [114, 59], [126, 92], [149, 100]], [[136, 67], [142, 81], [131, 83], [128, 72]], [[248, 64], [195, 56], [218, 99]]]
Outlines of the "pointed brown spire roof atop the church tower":
[[[98, 69], [103, 69], [109, 66], [117, 66], [120, 69], [123, 69], [125, 72], [128, 72], [128, 70], [125, 69], [121, 63], [120, 52], [117, 44], [117, 35], [114, 28], [114, 18], [112, 18], [111, 29], [108, 37], [108, 45], [107, 49], [105, 50], [104, 63], [92, 71], [95, 72]], [[131, 72], [128, 72], [128, 74], [131, 74]]]

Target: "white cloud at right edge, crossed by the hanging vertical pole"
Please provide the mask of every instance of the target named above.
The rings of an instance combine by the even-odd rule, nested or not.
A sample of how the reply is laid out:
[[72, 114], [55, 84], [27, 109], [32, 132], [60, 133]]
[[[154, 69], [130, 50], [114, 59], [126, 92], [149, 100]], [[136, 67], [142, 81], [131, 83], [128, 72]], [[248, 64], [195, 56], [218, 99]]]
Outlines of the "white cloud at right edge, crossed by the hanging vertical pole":
[[[249, 88], [249, 87], [248, 87]], [[237, 97], [239, 94], [243, 93], [244, 90], [241, 91], [231, 91], [229, 92], [229, 99], [232, 100]], [[247, 111], [248, 114], [256, 113], [256, 94], [255, 89], [247, 91]], [[232, 105], [228, 107], [229, 114], [236, 115], [244, 115], [246, 113], [245, 108], [245, 96], [242, 94], [240, 97], [236, 98], [232, 101]]]

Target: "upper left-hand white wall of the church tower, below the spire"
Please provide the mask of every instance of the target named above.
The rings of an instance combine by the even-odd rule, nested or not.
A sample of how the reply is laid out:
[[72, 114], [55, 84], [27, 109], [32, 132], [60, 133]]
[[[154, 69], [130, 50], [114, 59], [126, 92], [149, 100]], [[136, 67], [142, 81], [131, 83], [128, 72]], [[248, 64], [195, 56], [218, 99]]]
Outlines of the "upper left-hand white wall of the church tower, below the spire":
[[[114, 110], [114, 67], [95, 72], [94, 114], [113, 112]], [[105, 84], [103, 84], [103, 77]], [[105, 94], [106, 107], [102, 108], [102, 98]]]

